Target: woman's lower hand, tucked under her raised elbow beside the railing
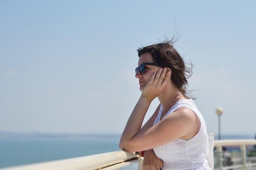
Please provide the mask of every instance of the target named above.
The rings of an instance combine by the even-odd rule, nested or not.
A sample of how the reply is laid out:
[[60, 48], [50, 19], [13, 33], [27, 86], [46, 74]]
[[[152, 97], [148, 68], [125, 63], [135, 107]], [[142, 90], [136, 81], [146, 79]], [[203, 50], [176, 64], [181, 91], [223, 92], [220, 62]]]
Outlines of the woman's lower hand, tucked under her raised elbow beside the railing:
[[153, 149], [145, 151], [142, 170], [160, 170], [160, 168], [163, 168], [163, 165], [162, 159], [155, 155]]

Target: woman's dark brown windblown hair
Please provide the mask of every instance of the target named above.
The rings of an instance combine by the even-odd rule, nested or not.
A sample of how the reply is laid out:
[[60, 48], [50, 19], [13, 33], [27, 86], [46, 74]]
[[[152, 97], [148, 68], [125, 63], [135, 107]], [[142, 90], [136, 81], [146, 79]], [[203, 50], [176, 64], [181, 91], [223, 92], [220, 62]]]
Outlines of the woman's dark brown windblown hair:
[[188, 96], [187, 92], [187, 79], [192, 76], [192, 63], [191, 68], [187, 68], [183, 58], [172, 46], [172, 39], [169, 41], [163, 41], [158, 44], [153, 44], [147, 47], [142, 47], [137, 49], [138, 56], [149, 52], [153, 61], [160, 64], [161, 67], [167, 67], [171, 69], [171, 81], [174, 85], [177, 86], [179, 91], [186, 97]]

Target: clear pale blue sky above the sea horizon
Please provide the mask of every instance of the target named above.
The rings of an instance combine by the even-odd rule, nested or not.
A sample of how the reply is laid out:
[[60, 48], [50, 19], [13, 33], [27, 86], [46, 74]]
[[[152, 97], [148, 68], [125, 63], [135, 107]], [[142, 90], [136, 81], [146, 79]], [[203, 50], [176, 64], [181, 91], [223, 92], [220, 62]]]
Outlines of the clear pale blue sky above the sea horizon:
[[[136, 50], [178, 37], [209, 132], [256, 134], [256, 1], [0, 0], [0, 131], [121, 134]], [[159, 104], [155, 99], [145, 116]], [[144, 124], [143, 123], [143, 124]]]

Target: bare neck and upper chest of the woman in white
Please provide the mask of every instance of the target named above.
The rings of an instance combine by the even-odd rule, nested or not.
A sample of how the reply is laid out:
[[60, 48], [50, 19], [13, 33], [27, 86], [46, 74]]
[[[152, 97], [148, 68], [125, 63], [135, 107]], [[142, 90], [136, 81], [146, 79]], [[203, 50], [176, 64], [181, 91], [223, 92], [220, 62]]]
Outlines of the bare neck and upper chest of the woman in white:
[[158, 100], [163, 106], [163, 113], [167, 113], [175, 102], [186, 99], [175, 85], [167, 84], [158, 96]]

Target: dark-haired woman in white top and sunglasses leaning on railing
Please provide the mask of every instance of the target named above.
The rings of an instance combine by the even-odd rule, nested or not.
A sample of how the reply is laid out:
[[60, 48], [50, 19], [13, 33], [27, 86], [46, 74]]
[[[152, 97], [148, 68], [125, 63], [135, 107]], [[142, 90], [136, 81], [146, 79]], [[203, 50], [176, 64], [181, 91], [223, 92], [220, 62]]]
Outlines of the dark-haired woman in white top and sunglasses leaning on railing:
[[[135, 77], [142, 94], [128, 119], [119, 148], [145, 151], [143, 170], [211, 170], [206, 160], [206, 124], [186, 92], [191, 70], [170, 41], [137, 51]], [[141, 128], [156, 97], [160, 104]]]

